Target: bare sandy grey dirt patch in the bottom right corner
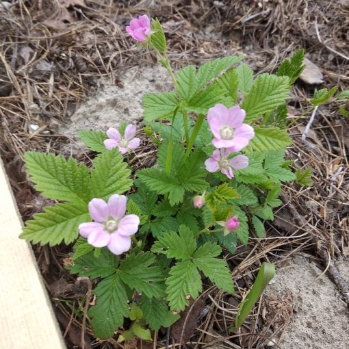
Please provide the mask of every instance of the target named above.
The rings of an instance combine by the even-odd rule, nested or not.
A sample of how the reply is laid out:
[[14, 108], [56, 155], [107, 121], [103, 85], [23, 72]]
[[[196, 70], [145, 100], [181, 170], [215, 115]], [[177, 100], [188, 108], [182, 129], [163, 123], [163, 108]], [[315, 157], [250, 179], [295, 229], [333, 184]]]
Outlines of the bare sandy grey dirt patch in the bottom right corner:
[[[339, 264], [339, 261], [338, 261]], [[340, 261], [349, 274], [349, 261]], [[281, 341], [283, 349], [345, 349], [349, 343], [349, 311], [335, 285], [322, 270], [305, 257], [296, 256], [288, 266], [276, 270], [266, 302], [292, 294], [293, 318]], [[276, 346], [274, 346], [276, 348]]]

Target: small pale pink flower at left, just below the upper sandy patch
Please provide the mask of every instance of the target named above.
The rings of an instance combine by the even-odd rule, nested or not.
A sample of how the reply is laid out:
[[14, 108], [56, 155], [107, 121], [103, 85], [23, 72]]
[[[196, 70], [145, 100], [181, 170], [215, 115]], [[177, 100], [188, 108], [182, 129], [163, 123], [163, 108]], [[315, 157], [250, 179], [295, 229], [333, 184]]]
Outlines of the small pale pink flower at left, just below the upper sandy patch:
[[107, 131], [107, 136], [109, 137], [104, 141], [104, 146], [108, 150], [118, 146], [121, 154], [125, 154], [130, 149], [137, 148], [140, 146], [140, 139], [133, 138], [135, 135], [135, 125], [127, 125], [125, 129], [125, 136], [121, 137], [120, 132], [114, 127], [111, 127]]

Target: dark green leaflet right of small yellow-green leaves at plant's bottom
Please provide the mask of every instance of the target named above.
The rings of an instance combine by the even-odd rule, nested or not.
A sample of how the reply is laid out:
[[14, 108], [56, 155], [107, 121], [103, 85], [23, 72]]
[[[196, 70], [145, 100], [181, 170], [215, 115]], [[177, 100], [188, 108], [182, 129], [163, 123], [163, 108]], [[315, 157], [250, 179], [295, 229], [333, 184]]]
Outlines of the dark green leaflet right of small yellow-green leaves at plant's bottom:
[[159, 331], [164, 326], [168, 316], [166, 300], [148, 298], [142, 295], [140, 298], [140, 307], [143, 311], [143, 318], [154, 331]]

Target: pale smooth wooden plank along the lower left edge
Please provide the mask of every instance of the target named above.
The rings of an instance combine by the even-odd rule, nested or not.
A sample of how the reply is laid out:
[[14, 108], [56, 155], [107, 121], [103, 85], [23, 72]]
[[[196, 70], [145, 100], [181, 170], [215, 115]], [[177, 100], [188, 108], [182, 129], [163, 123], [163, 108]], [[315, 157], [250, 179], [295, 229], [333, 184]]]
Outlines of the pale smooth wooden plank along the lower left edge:
[[23, 226], [0, 159], [0, 348], [64, 349], [34, 253], [18, 239]]

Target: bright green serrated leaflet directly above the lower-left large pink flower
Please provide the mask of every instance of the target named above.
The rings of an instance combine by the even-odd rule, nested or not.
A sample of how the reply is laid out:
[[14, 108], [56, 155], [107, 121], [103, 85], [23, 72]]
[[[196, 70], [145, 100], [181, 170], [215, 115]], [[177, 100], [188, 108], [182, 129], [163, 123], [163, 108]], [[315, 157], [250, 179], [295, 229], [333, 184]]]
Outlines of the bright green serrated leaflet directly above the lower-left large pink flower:
[[118, 148], [105, 151], [93, 161], [91, 171], [93, 197], [107, 199], [112, 194], [127, 192], [133, 181], [129, 178], [131, 170], [123, 161]]

